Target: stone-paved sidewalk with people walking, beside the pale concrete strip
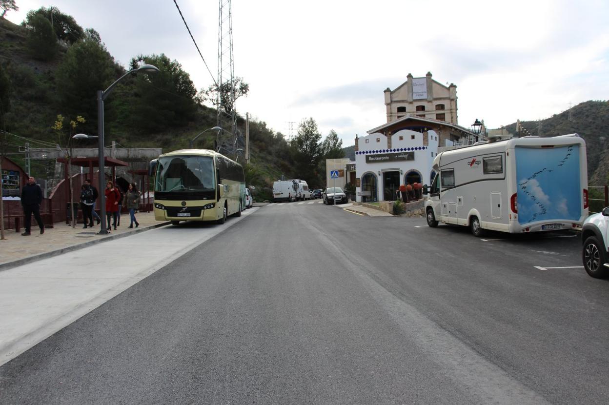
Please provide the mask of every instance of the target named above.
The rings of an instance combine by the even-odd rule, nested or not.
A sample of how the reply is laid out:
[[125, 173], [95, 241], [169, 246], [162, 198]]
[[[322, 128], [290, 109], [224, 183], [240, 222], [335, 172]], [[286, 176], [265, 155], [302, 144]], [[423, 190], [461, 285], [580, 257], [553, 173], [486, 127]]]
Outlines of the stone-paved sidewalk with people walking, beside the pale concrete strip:
[[[154, 219], [154, 213], [138, 213], [135, 214], [138, 219], [139, 227], [132, 229], [127, 228], [129, 226], [129, 214], [121, 215], [121, 226], [116, 227], [115, 230], [111, 230], [110, 234], [100, 235], [97, 234], [100, 230], [100, 225], [93, 225], [93, 228], [83, 228], [83, 224], [76, 224], [76, 228], [72, 228], [70, 225], [66, 225], [65, 222], [57, 222], [54, 224], [54, 228], [46, 228], [44, 234], [40, 234], [40, 228], [38, 224], [32, 218], [32, 234], [30, 236], [21, 236], [24, 229], [15, 232], [14, 229], [4, 230], [4, 236], [7, 238], [4, 241], [0, 240], [0, 271], [13, 267], [14, 264], [24, 264], [28, 259], [35, 260], [43, 257], [51, 256], [51, 252], [62, 251], [66, 252], [78, 248], [77, 245], [91, 245], [96, 242], [100, 242], [103, 239], [115, 239], [108, 238], [108, 236], [116, 236], [118, 234], [127, 233], [139, 233], [140, 231], [147, 230], [151, 227], [155, 227], [165, 222], [160, 222]], [[93, 243], [91, 243], [93, 241]], [[22, 262], [12, 263], [10, 262], [24, 260]]]

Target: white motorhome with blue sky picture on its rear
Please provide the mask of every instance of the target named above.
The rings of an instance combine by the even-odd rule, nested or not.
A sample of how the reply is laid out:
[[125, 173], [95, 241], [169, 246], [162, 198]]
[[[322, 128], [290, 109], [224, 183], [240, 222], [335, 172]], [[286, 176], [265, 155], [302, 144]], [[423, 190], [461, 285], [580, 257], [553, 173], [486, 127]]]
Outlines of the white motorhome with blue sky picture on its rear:
[[577, 134], [525, 136], [446, 150], [424, 186], [427, 223], [526, 233], [578, 228], [588, 216], [586, 144]]

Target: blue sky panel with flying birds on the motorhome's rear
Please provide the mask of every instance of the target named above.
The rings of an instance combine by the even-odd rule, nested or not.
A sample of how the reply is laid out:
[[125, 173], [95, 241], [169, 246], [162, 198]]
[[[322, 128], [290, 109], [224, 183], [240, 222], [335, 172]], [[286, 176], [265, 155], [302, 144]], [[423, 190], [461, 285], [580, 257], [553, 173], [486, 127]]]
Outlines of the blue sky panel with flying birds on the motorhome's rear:
[[579, 219], [579, 153], [573, 152], [574, 146], [544, 150], [517, 147], [520, 224], [553, 218]]

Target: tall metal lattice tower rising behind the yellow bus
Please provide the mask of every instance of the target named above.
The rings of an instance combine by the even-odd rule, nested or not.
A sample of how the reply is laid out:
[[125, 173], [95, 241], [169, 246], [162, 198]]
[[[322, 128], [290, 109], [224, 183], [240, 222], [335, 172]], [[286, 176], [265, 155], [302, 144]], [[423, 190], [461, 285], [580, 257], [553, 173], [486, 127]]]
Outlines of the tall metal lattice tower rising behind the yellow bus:
[[219, 0], [218, 13], [218, 76], [217, 85], [217, 125], [232, 134], [228, 139], [226, 132], [217, 135], [216, 149], [224, 149], [226, 153], [236, 153], [237, 113], [235, 110], [233, 63], [233, 16], [231, 14], [231, 0]]

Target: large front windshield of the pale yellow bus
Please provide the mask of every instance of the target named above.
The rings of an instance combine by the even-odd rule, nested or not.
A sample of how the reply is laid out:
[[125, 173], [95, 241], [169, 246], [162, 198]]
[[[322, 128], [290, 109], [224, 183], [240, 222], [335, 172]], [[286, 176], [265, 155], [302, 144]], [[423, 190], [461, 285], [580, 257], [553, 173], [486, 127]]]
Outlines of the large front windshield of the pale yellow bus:
[[214, 190], [214, 161], [206, 156], [169, 156], [158, 160], [155, 191]]

